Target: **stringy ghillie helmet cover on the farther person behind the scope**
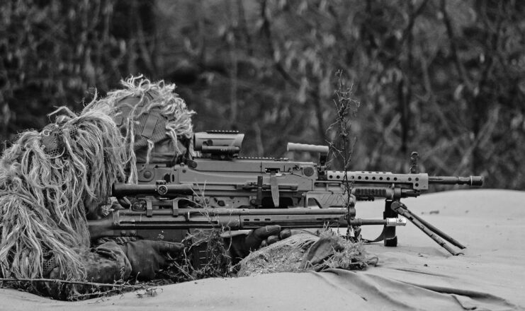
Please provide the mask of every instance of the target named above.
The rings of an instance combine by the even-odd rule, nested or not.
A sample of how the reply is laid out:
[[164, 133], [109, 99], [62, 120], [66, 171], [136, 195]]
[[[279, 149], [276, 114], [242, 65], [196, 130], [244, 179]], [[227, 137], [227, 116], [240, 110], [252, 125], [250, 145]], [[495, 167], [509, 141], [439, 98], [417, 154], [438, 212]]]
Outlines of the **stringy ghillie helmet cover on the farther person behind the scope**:
[[121, 83], [123, 89], [113, 90], [105, 98], [91, 102], [84, 111], [105, 111], [113, 117], [128, 148], [127, 182], [137, 183], [138, 154], [145, 155], [140, 162], [147, 165], [154, 148], [162, 148], [166, 141], [170, 143], [166, 151], [171, 157], [193, 154], [191, 117], [195, 112], [188, 110], [186, 102], [174, 93], [174, 84], [153, 83], [142, 76]]

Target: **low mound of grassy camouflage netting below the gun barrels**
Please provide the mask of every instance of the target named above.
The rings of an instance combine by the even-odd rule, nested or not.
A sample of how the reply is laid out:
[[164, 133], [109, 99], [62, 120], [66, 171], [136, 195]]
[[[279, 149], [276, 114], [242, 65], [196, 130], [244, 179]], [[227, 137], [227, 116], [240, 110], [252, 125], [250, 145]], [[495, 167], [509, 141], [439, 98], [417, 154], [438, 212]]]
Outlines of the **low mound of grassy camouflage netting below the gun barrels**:
[[329, 268], [366, 269], [368, 265], [376, 265], [377, 260], [366, 254], [363, 242], [351, 242], [332, 230], [324, 230], [319, 236], [292, 235], [250, 253], [239, 263], [237, 276]]

